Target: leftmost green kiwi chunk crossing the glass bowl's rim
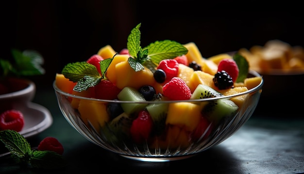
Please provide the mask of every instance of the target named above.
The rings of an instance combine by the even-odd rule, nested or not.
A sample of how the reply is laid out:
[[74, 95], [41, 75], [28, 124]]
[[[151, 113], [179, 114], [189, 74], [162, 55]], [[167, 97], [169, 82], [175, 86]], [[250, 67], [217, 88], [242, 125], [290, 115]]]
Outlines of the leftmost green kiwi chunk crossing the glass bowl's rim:
[[[144, 102], [146, 101], [143, 95], [137, 91], [134, 87], [124, 87], [117, 95], [118, 99], [121, 101], [134, 101], [134, 102]], [[138, 103], [121, 103], [121, 107], [126, 114], [131, 114], [139, 110], [143, 110], [147, 104]]]

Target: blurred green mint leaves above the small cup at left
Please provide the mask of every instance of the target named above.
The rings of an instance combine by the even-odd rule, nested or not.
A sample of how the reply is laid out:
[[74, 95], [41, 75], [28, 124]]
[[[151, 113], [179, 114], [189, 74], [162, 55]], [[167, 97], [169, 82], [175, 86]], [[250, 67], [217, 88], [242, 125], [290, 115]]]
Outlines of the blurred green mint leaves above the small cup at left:
[[33, 76], [42, 75], [45, 70], [42, 68], [44, 59], [42, 55], [34, 50], [25, 50], [20, 52], [17, 49], [12, 49], [14, 62], [6, 59], [0, 59], [0, 70], [2, 77], [7, 76]]

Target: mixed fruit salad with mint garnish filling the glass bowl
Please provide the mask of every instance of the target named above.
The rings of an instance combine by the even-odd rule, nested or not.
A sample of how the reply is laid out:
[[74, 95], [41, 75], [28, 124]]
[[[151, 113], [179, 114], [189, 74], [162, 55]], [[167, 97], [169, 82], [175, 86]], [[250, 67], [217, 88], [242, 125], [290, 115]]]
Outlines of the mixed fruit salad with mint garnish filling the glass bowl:
[[[126, 49], [106, 45], [55, 77], [60, 90], [84, 97], [67, 101], [106, 142], [186, 148], [208, 139], [249, 97], [225, 96], [261, 84], [260, 76], [248, 76], [248, 62], [239, 54], [206, 59], [195, 43], [170, 40], [141, 48], [139, 27], [131, 31]], [[201, 102], [214, 97], [219, 100]]]

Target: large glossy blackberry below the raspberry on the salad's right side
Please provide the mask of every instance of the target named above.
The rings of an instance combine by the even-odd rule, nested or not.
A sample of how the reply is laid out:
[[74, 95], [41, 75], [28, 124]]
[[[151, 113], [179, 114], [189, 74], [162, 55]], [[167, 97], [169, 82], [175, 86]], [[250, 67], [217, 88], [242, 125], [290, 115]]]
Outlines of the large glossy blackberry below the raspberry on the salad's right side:
[[233, 88], [233, 80], [230, 75], [224, 71], [218, 71], [213, 78], [214, 85], [219, 89]]

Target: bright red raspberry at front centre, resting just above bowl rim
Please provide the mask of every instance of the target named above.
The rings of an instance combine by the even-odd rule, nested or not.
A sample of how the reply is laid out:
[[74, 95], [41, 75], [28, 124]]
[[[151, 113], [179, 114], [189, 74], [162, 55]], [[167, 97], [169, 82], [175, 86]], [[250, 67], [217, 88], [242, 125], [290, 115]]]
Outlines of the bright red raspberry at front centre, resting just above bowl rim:
[[186, 82], [179, 78], [173, 77], [171, 81], [163, 86], [164, 96], [170, 100], [189, 100], [191, 97], [190, 88]]

